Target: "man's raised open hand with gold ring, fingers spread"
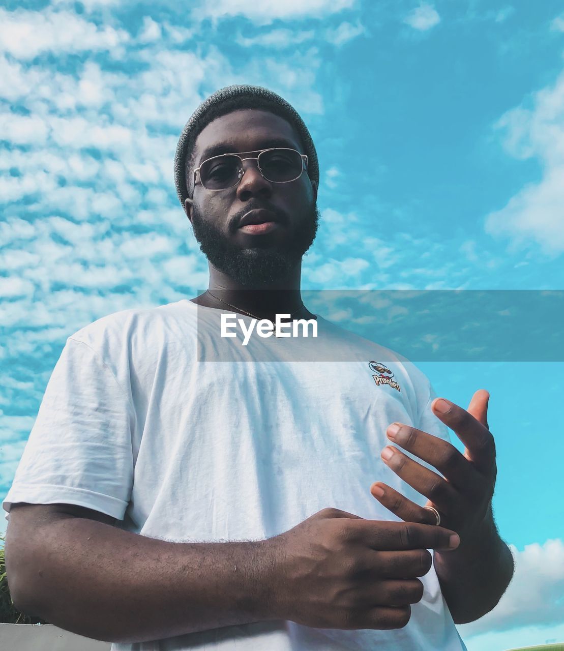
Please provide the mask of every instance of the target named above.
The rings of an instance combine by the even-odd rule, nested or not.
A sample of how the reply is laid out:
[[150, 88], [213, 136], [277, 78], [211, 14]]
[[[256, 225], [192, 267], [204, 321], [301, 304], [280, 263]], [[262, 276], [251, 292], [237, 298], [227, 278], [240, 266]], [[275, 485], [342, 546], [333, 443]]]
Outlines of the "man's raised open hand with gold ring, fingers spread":
[[[488, 430], [487, 410], [490, 395], [479, 389], [472, 396], [468, 411], [443, 398], [431, 404], [433, 413], [453, 430], [464, 443], [464, 454], [439, 437], [416, 428], [392, 423], [386, 434], [396, 445], [435, 467], [444, 477], [417, 464], [393, 446], [382, 450], [382, 459], [407, 484], [429, 501], [425, 506], [435, 508], [441, 526], [456, 531], [460, 546], [472, 540], [480, 527], [491, 518], [491, 503], [496, 483], [496, 445]], [[397, 432], [394, 431], [395, 427]], [[386, 450], [391, 450], [389, 460]], [[382, 496], [374, 489], [384, 490]], [[436, 516], [429, 509], [410, 501], [390, 486], [375, 482], [371, 493], [399, 518], [409, 522], [436, 524]]]

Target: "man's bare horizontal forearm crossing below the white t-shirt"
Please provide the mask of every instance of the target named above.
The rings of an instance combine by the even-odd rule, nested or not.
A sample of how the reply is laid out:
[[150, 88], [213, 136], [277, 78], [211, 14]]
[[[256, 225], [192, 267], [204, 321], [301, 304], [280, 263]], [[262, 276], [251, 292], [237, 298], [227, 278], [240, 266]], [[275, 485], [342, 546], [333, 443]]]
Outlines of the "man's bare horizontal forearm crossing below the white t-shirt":
[[267, 542], [175, 543], [60, 519], [45, 528], [33, 558], [18, 560], [14, 575], [29, 587], [20, 607], [122, 643], [274, 619]]

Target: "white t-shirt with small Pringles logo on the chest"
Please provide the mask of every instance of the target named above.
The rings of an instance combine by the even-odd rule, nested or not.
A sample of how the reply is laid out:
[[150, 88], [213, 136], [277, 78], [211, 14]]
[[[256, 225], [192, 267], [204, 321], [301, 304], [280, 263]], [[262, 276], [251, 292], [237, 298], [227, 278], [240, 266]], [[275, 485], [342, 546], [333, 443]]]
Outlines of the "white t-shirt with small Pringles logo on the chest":
[[[320, 315], [317, 340], [255, 336], [242, 346], [241, 335], [219, 336], [221, 312], [184, 299], [69, 337], [3, 508], [68, 503], [144, 536], [212, 542], [270, 538], [326, 506], [399, 521], [371, 495], [376, 480], [426, 503], [380, 458], [393, 421], [449, 440], [417, 367]], [[302, 361], [314, 345], [323, 361]], [[277, 620], [112, 651], [466, 651], [433, 567], [421, 581], [400, 629]]]

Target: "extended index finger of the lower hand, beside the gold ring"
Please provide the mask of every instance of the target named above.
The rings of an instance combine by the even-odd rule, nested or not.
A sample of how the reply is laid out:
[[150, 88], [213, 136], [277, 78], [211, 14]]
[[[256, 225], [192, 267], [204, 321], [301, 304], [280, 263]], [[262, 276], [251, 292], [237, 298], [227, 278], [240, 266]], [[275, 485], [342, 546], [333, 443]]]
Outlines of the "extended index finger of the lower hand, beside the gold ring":
[[348, 523], [349, 535], [371, 549], [456, 549], [460, 538], [455, 531], [437, 525], [414, 522], [358, 519]]

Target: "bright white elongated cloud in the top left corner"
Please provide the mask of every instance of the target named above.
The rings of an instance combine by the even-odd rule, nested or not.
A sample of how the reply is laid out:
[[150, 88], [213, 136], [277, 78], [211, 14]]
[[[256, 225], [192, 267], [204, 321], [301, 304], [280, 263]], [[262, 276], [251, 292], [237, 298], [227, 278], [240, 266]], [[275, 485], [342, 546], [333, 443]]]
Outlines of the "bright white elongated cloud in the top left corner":
[[29, 61], [47, 51], [81, 52], [106, 50], [115, 55], [122, 51], [130, 36], [109, 25], [99, 27], [68, 11], [44, 12], [0, 8], [3, 38], [0, 51]]

